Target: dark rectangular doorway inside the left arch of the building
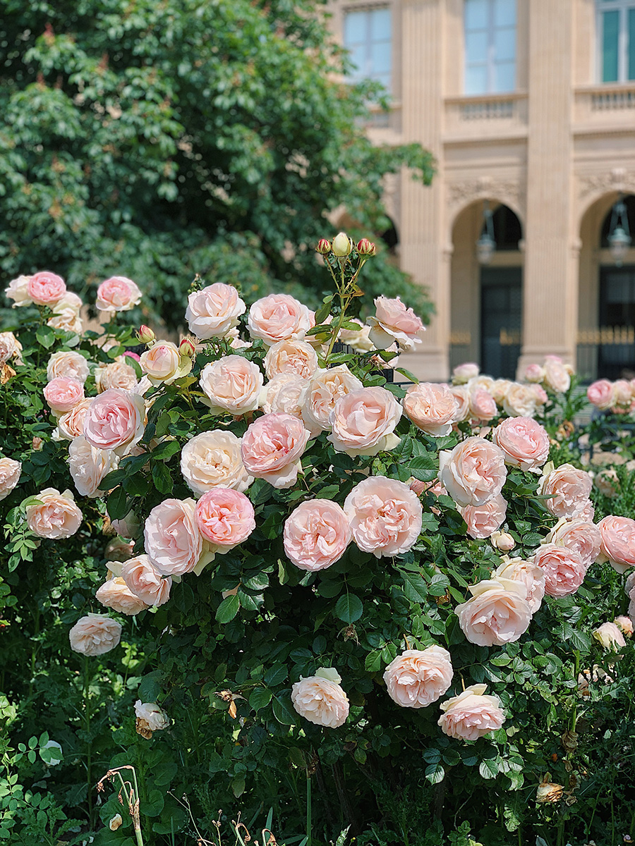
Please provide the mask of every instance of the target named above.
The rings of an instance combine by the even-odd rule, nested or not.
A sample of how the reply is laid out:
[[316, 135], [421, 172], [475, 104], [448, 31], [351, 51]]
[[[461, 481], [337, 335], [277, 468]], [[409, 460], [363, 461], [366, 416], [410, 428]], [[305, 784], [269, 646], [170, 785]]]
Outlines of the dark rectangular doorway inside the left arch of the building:
[[481, 268], [481, 370], [516, 378], [521, 354], [522, 267]]

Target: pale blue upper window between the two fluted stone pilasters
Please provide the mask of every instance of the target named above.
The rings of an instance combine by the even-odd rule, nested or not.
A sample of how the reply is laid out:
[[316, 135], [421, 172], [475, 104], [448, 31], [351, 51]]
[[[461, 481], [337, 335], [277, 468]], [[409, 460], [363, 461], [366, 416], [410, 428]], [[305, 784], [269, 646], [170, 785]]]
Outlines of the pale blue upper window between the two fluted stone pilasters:
[[465, 93], [516, 88], [516, 0], [465, 0]]

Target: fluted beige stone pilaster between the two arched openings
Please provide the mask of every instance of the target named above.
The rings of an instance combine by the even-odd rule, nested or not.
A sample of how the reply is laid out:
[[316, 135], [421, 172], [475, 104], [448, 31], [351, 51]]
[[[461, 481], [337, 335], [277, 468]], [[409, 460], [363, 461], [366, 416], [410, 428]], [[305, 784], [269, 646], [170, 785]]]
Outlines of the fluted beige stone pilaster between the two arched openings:
[[529, 3], [527, 231], [519, 372], [545, 354], [575, 364], [572, 15], [572, 0]]

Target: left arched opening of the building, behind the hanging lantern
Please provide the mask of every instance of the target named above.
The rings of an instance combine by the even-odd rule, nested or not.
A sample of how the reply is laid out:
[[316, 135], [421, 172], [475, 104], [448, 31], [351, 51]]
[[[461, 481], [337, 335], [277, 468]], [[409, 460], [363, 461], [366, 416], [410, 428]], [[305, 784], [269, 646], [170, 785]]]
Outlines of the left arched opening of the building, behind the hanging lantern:
[[[488, 228], [495, 250], [479, 264], [477, 241]], [[477, 201], [456, 217], [452, 243], [450, 365], [478, 361], [490, 376], [514, 378], [522, 344], [521, 222], [509, 206]]]

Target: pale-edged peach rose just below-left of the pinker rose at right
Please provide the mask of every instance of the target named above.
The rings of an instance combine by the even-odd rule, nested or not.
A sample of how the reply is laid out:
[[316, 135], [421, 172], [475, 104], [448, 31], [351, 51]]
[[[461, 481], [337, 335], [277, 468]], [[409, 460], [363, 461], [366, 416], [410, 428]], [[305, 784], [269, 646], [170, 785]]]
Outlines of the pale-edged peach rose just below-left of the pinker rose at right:
[[503, 489], [505, 455], [483, 437], [468, 437], [451, 452], [439, 453], [439, 481], [456, 503], [483, 505]]

